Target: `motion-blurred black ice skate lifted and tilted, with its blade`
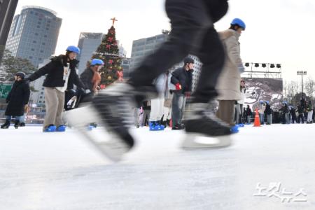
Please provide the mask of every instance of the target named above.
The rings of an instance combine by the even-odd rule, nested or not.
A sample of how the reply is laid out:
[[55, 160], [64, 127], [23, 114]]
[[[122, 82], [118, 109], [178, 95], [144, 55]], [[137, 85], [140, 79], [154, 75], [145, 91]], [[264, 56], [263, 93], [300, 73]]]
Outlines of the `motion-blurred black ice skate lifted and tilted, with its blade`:
[[[87, 140], [113, 161], [121, 160], [123, 154], [134, 146], [129, 132], [132, 125], [132, 90], [133, 87], [126, 83], [111, 85], [88, 106], [65, 113], [69, 125], [78, 128]], [[86, 127], [90, 122], [100, 125], [97, 130], [103, 135], [88, 131]]]

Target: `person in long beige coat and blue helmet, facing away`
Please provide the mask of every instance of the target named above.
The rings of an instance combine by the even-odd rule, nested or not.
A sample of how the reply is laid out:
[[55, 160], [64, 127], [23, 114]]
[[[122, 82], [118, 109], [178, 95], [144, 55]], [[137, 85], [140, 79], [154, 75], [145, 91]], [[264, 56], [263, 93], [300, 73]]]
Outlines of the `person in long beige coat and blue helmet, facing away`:
[[241, 62], [239, 36], [245, 28], [245, 23], [236, 18], [232, 21], [230, 29], [219, 32], [226, 57], [225, 66], [216, 86], [219, 94], [217, 98], [219, 106], [216, 115], [231, 126], [235, 125], [235, 102], [241, 100], [239, 81], [241, 80], [241, 73], [244, 72], [244, 66]]

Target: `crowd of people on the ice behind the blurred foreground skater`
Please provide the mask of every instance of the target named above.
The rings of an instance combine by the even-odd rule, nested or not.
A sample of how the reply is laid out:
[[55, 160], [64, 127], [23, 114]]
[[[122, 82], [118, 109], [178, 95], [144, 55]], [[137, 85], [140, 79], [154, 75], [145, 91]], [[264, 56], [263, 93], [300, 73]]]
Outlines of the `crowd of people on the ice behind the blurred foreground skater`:
[[[239, 36], [246, 28], [242, 20], [235, 19], [230, 29], [219, 32], [219, 36], [225, 48], [225, 65], [222, 73], [218, 76], [216, 90], [218, 90], [218, 106], [214, 113], [218, 120], [228, 124], [236, 131], [238, 127], [253, 122], [255, 112], [251, 107], [244, 106], [246, 97], [254, 94], [247, 92], [245, 81], [241, 80], [240, 74], [244, 66], [240, 58]], [[63, 111], [69, 111], [78, 107], [78, 104], [91, 102], [94, 95], [99, 92], [101, 76], [99, 70], [104, 66], [100, 59], [92, 59], [87, 64], [85, 71], [78, 76], [76, 72], [76, 55], [80, 49], [76, 46], [66, 48], [65, 55], [52, 57], [51, 61], [41, 69], [26, 78], [25, 73], [15, 74], [15, 83], [6, 99], [6, 122], [1, 128], [10, 126], [11, 118], [15, 118], [15, 128], [25, 125], [25, 113], [29, 101], [29, 82], [41, 76], [46, 76], [43, 83], [45, 87], [45, 120], [43, 132], [64, 132], [66, 122], [62, 119]], [[183, 112], [186, 101], [190, 99], [193, 91], [193, 69], [195, 61], [192, 57], [183, 60], [183, 66], [174, 71], [166, 71], [153, 81], [158, 90], [158, 96], [146, 98], [140, 107], [132, 108], [134, 111], [134, 125], [136, 127], [148, 126], [151, 131], [162, 131], [165, 127], [172, 130], [183, 130]], [[240, 81], [240, 84], [239, 84]], [[76, 90], [73, 89], [76, 85]], [[209, 109], [210, 105], [205, 109]], [[314, 112], [311, 102], [301, 99], [297, 107], [283, 106], [278, 112], [277, 118], [283, 124], [288, 123], [313, 123]], [[211, 111], [210, 111], [211, 112]], [[271, 125], [276, 118], [269, 102], [260, 101], [260, 123]], [[90, 122], [90, 125], [96, 126]]]

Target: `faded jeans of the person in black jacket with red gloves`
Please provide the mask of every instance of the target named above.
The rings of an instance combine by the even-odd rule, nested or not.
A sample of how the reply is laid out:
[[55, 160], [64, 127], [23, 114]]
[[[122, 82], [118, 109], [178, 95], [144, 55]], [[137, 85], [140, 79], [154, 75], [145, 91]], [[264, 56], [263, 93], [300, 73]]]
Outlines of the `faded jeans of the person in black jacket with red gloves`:
[[183, 109], [185, 109], [185, 104], [186, 104], [185, 95], [179, 92], [174, 92], [172, 104], [173, 125], [181, 125], [181, 120], [183, 119]]

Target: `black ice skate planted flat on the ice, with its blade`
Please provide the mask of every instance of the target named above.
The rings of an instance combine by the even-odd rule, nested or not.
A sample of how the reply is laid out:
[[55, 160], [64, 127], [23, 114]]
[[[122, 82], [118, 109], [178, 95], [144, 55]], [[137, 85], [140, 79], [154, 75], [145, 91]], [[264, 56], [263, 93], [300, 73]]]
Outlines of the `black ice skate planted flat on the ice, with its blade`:
[[230, 146], [231, 127], [207, 111], [209, 104], [190, 104], [185, 111], [187, 137], [184, 149], [221, 148]]

